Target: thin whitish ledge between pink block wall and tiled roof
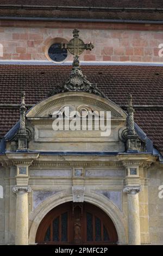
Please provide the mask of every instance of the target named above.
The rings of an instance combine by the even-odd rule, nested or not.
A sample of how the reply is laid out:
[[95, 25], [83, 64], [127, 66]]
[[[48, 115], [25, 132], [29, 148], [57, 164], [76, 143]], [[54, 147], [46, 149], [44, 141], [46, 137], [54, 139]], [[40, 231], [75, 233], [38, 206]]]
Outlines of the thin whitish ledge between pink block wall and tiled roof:
[[[63, 63], [54, 63], [47, 60], [0, 60], [0, 64], [5, 65], [72, 65], [72, 61]], [[100, 66], [163, 66], [161, 62], [105, 62], [105, 61], [80, 61], [82, 65], [100, 65]]]

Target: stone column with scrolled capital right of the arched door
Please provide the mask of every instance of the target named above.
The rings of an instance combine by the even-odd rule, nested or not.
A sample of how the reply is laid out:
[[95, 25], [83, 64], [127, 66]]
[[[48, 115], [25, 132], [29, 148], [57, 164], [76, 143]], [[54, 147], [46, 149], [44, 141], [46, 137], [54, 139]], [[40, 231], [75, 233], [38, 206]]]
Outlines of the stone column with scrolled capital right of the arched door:
[[123, 190], [128, 197], [128, 244], [140, 245], [139, 192], [141, 186], [126, 186]]

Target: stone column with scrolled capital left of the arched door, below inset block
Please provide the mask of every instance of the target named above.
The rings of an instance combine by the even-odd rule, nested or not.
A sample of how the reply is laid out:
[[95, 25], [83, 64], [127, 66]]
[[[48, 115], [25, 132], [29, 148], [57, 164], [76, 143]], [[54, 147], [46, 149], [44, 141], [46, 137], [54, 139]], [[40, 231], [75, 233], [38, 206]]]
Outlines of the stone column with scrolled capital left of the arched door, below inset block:
[[12, 188], [16, 193], [15, 245], [28, 245], [28, 193], [30, 186]]

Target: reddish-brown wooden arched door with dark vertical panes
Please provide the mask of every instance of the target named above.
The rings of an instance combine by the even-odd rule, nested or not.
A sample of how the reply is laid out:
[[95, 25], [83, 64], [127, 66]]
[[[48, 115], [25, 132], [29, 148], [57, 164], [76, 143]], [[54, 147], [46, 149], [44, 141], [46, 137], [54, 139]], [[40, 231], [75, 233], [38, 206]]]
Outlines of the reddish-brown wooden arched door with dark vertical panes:
[[48, 212], [36, 233], [40, 244], [116, 244], [114, 223], [108, 215], [90, 203], [61, 204]]

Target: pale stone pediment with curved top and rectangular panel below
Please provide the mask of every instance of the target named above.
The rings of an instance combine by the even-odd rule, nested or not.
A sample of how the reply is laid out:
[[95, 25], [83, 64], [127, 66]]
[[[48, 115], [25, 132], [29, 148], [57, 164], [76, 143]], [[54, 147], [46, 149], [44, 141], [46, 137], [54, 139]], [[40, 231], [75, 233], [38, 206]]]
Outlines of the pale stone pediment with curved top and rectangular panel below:
[[[68, 123], [66, 106], [70, 111]], [[62, 113], [61, 123], [57, 123], [59, 121], [56, 113], [59, 112]], [[107, 112], [109, 112], [109, 117], [111, 116], [111, 122]], [[78, 113], [80, 124], [76, 123], [73, 126]], [[89, 113], [97, 113], [97, 117], [100, 118], [103, 114], [107, 134], [103, 133], [101, 119], [99, 121], [98, 118], [92, 118], [92, 123], [86, 121], [83, 125], [83, 113], [88, 113], [86, 119]], [[34, 141], [29, 143], [30, 150], [124, 151], [124, 143], [119, 139], [119, 131], [126, 125], [127, 114], [114, 102], [102, 96], [85, 92], [55, 94], [31, 108], [26, 117], [28, 125], [34, 129]], [[54, 124], [61, 124], [61, 129], [57, 125], [54, 127]], [[95, 129], [95, 126], [98, 127]]]

